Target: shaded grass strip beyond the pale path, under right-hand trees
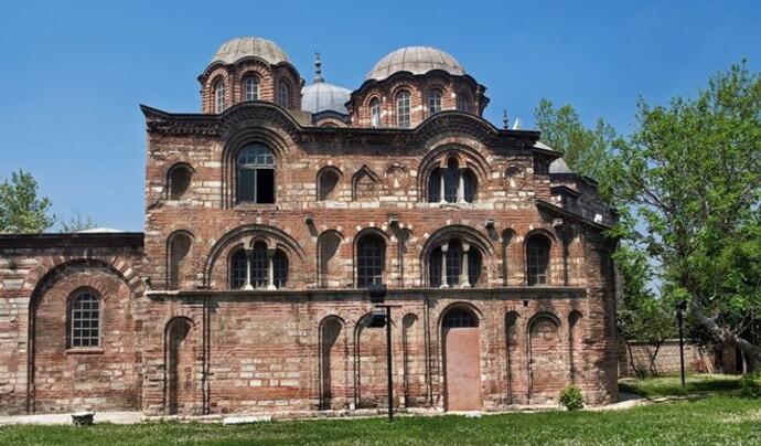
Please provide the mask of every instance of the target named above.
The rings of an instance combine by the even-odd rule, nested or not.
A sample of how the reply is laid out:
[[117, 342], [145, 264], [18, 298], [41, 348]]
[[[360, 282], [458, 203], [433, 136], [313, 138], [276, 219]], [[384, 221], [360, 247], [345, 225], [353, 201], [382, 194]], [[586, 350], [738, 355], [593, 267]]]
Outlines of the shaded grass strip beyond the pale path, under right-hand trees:
[[644, 380], [624, 379], [619, 390], [645, 397], [684, 396], [690, 394], [726, 393], [740, 389], [740, 375], [693, 374], [687, 376], [687, 386], [682, 386], [679, 375], [646, 378]]

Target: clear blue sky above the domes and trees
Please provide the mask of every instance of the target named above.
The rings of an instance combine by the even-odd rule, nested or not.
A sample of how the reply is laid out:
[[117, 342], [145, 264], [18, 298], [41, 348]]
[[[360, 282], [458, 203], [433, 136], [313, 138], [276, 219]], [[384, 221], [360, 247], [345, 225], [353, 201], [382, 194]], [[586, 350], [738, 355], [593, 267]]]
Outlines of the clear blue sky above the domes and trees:
[[[25, 169], [63, 219], [143, 226], [143, 103], [197, 112], [196, 76], [238, 35], [276, 41], [311, 82], [356, 88], [377, 60], [433, 45], [487, 87], [486, 118], [533, 125], [542, 97], [620, 132], [743, 57], [761, 71], [758, 1], [7, 1], [0, 9], [0, 178]], [[266, 4], [266, 6], [265, 6]]]

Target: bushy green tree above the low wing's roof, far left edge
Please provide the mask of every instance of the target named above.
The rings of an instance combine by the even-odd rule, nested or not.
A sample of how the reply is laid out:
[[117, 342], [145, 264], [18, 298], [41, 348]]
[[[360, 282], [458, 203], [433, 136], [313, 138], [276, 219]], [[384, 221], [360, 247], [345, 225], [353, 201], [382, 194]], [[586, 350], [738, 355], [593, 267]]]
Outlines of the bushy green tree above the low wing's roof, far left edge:
[[37, 197], [37, 182], [31, 173], [19, 170], [0, 184], [0, 232], [39, 233], [50, 229], [55, 216], [51, 201]]

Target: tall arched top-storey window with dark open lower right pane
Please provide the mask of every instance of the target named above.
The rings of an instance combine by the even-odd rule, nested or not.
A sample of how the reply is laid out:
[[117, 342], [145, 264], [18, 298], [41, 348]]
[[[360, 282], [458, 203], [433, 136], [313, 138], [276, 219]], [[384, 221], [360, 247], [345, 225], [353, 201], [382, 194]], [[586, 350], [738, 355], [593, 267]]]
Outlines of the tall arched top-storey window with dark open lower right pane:
[[275, 157], [262, 145], [244, 148], [237, 158], [238, 203], [275, 203]]

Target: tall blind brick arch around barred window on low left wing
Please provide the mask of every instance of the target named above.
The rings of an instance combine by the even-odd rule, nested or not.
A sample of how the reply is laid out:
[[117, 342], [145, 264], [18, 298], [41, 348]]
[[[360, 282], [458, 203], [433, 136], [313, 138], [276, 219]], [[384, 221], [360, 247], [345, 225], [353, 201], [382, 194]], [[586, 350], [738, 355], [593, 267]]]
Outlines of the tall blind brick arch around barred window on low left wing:
[[[41, 265], [36, 270], [31, 272], [32, 277], [28, 279], [25, 286], [32, 286], [33, 290], [30, 296], [29, 301], [29, 320], [28, 320], [28, 380], [26, 380], [26, 411], [29, 413], [34, 413], [37, 410], [37, 389], [36, 385], [36, 364], [37, 357], [44, 354], [46, 357], [45, 373], [64, 373], [72, 374], [72, 380], [77, 380], [79, 374], [83, 380], [95, 380], [97, 383], [104, 383], [103, 378], [98, 375], [98, 372], [105, 369], [105, 363], [98, 365], [98, 362], [117, 362], [122, 361], [124, 358], [117, 359], [112, 354], [119, 354], [121, 357], [127, 352], [127, 357], [130, 357], [130, 351], [133, 351], [135, 346], [130, 344], [132, 338], [124, 337], [108, 337], [105, 334], [109, 332], [131, 332], [133, 331], [133, 318], [135, 312], [132, 306], [138, 296], [142, 295], [144, 289], [142, 280], [137, 276], [135, 269], [127, 262], [118, 262], [115, 266], [114, 264], [97, 259], [97, 258], [72, 258], [58, 263], [52, 267], [46, 265]], [[44, 273], [42, 273], [44, 272]], [[88, 288], [95, 290], [99, 298], [99, 311], [101, 322], [99, 323], [99, 330], [101, 331], [101, 343], [96, 349], [97, 354], [88, 354], [86, 357], [78, 354], [67, 354], [66, 353], [66, 333], [68, 327], [66, 322], [67, 318], [63, 317], [67, 312], [68, 299], [72, 294], [77, 289]], [[50, 305], [45, 305], [52, 314], [45, 315], [39, 314], [39, 309], [43, 299], [50, 298]], [[49, 312], [50, 312], [49, 311]], [[104, 316], [105, 314], [105, 316]], [[42, 319], [41, 319], [42, 318]], [[44, 320], [43, 320], [44, 319]], [[110, 327], [115, 325], [114, 327]], [[39, 330], [37, 327], [43, 326], [45, 328], [44, 334], [45, 343], [41, 344], [39, 341]], [[105, 327], [104, 327], [105, 326]], [[110, 327], [110, 328], [109, 328]], [[117, 346], [118, 344], [118, 346]], [[41, 349], [44, 349], [42, 351]], [[119, 351], [121, 350], [121, 351]], [[75, 373], [68, 369], [74, 367], [74, 370], [78, 371], [77, 364], [82, 361], [90, 363], [89, 370], [85, 368], [84, 373]], [[131, 362], [130, 362], [131, 361]], [[137, 363], [133, 360], [128, 359], [131, 365], [137, 368]], [[127, 367], [128, 368], [128, 367]], [[129, 368], [128, 368], [129, 369]], [[135, 369], [137, 371], [137, 369]], [[95, 374], [93, 374], [95, 373]], [[136, 372], [137, 373], [137, 372]], [[100, 378], [98, 378], [100, 376]], [[127, 370], [125, 379], [131, 376], [131, 372]], [[110, 399], [106, 399], [105, 406], [112, 410], [115, 406], [120, 408], [137, 408], [139, 400], [139, 382], [137, 375], [135, 375], [135, 382], [128, 385], [128, 389], [136, 392], [135, 395], [125, 393], [124, 395], [119, 392], [114, 392]], [[44, 380], [45, 382], [50, 380]], [[55, 383], [61, 383], [58, 379], [54, 380]], [[119, 380], [116, 380], [119, 381]], [[107, 384], [108, 380], [105, 381]], [[74, 397], [77, 387], [84, 385], [79, 383], [74, 385], [68, 384], [64, 390], [51, 389], [51, 392], [67, 392], [66, 395]], [[105, 384], [104, 384], [105, 385]], [[101, 389], [101, 385], [94, 385], [94, 390], [83, 392], [88, 394], [95, 394], [97, 392], [106, 392]], [[93, 393], [95, 392], [95, 393]], [[49, 392], [50, 393], [50, 392]], [[122, 392], [124, 393], [124, 392]], [[84, 394], [83, 394], [84, 395]], [[104, 394], [105, 395], [105, 394]], [[50, 399], [49, 399], [50, 400]], [[51, 401], [56, 400], [53, 397]], [[66, 400], [64, 394], [60, 394], [57, 400]], [[68, 410], [71, 407], [56, 407], [55, 403], [45, 403], [45, 407], [40, 407], [47, 411], [57, 410]], [[65, 403], [61, 403], [64, 404]]]

